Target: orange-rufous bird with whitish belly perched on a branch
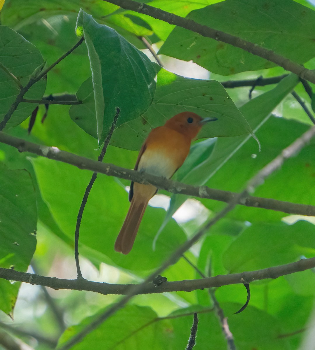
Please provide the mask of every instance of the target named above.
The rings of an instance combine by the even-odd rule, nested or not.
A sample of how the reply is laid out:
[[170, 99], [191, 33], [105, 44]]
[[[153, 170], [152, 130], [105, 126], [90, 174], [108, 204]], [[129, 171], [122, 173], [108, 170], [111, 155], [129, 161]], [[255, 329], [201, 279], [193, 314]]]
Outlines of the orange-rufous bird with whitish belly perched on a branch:
[[[145, 139], [134, 170], [169, 179], [186, 159], [191, 142], [201, 127], [218, 118], [201, 118], [193, 112], [181, 112], [153, 129]], [[130, 208], [115, 242], [115, 250], [131, 251], [149, 200], [157, 193], [153, 185], [131, 182]]]

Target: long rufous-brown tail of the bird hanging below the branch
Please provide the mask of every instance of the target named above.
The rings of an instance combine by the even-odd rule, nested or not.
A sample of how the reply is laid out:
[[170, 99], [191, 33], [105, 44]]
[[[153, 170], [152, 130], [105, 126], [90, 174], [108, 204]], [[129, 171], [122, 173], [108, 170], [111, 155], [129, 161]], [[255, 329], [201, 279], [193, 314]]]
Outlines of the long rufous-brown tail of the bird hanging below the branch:
[[132, 198], [128, 214], [115, 242], [116, 252], [128, 254], [136, 239], [139, 225], [149, 200], [135, 200]]

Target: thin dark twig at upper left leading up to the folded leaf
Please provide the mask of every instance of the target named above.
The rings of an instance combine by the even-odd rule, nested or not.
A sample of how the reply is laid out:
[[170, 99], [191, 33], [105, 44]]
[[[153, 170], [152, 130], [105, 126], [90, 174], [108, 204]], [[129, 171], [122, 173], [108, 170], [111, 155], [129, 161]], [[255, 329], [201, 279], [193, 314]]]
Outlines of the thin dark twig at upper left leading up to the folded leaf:
[[6, 115], [4, 116], [3, 120], [0, 123], [0, 131], [2, 131], [6, 124], [8, 123], [8, 121], [10, 120], [12, 114], [14, 113], [14, 111], [18, 108], [18, 105], [22, 102], [24, 95], [26, 94], [26, 92], [30, 89], [30, 87], [32, 85], [34, 85], [36, 82], [38, 82], [41, 78], [43, 78], [51, 69], [54, 68], [54, 66], [56, 66], [60, 61], [62, 61], [65, 57], [67, 57], [69, 54], [71, 54], [71, 52], [73, 50], [75, 50], [79, 45], [82, 44], [84, 40], [84, 37], [82, 37], [75, 45], [74, 47], [72, 47], [69, 51], [67, 51], [64, 55], [62, 55], [59, 59], [57, 59], [56, 62], [54, 62], [52, 65], [50, 65], [47, 69], [43, 70], [41, 73], [39, 73], [36, 77], [33, 77], [29, 80], [29, 82], [27, 83], [27, 85], [25, 87], [22, 87], [22, 89], [20, 90], [18, 96], [16, 96], [16, 99], [14, 101], [14, 103], [11, 105], [10, 109], [8, 110], [8, 112], [6, 113]]

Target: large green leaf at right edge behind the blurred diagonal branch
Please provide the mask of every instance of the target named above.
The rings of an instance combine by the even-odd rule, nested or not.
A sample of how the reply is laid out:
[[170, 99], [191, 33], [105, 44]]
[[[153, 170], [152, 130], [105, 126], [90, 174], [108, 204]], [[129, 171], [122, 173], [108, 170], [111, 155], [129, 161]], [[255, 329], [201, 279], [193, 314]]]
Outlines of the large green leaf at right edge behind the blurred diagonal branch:
[[[248, 140], [230, 161], [211, 178], [208, 185], [233, 192], [241, 191], [249, 178], [272, 161], [281, 153], [282, 149], [289, 146], [307, 129], [308, 126], [293, 120], [270, 118], [257, 132], [262, 145], [261, 152], [254, 152], [255, 144]], [[282, 137], [279, 137], [279, 132], [281, 132]], [[299, 155], [286, 160], [279, 171], [266, 179], [255, 190], [254, 195], [280, 201], [314, 205], [315, 162], [312, 156], [313, 149], [314, 141], [311, 141], [309, 145], [302, 149]], [[240, 164], [241, 167], [239, 167]], [[231, 176], [231, 173], [234, 176]], [[303, 177], [302, 182], [301, 176]], [[308, 188], [307, 191], [306, 188]], [[220, 210], [223, 205], [207, 200], [203, 200], [203, 203], [207, 208], [214, 211]], [[229, 214], [229, 217], [249, 222], [275, 222], [286, 215], [279, 211], [238, 206]]]

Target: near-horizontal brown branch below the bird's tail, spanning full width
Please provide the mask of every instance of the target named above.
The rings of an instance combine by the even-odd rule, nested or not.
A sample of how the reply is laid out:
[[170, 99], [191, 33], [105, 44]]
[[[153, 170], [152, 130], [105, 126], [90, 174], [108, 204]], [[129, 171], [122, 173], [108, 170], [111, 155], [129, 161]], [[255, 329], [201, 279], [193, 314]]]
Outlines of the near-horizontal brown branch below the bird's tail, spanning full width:
[[[289, 275], [295, 272], [305, 271], [315, 267], [315, 258], [301, 259], [290, 264], [268, 267], [257, 271], [247, 271], [228, 275], [217, 275], [208, 278], [183, 281], [167, 281], [155, 287], [152, 283], [145, 283], [142, 289], [135, 295], [159, 294], [166, 292], [192, 292], [197, 289], [222, 287], [232, 284], [244, 284], [264, 279], [276, 279], [280, 276]], [[94, 282], [85, 279], [66, 280], [56, 277], [46, 277], [35, 273], [15, 271], [11, 268], [0, 268], [0, 278], [8, 281], [25, 282], [32, 285], [46, 286], [53, 289], [85, 290], [88, 292], [100, 293], [103, 295], [126, 295], [134, 284], [110, 284], [105, 282]]]

